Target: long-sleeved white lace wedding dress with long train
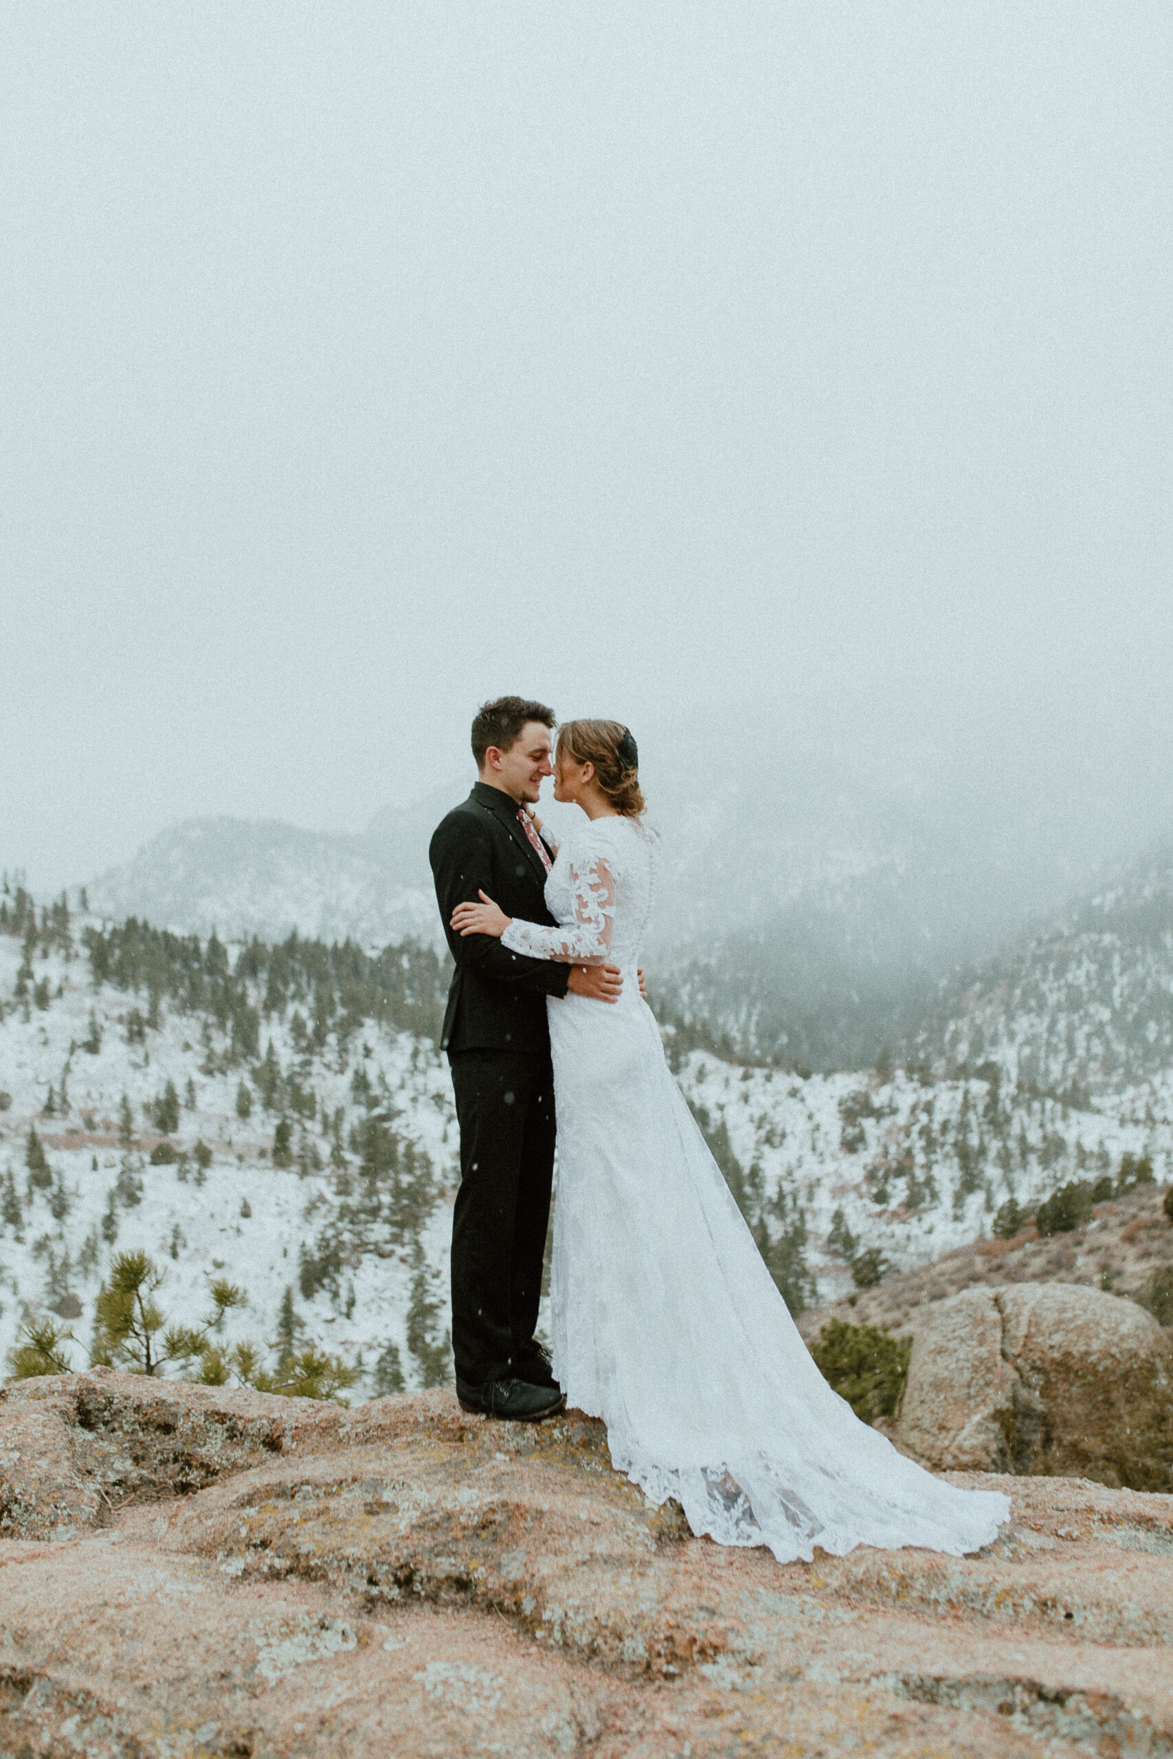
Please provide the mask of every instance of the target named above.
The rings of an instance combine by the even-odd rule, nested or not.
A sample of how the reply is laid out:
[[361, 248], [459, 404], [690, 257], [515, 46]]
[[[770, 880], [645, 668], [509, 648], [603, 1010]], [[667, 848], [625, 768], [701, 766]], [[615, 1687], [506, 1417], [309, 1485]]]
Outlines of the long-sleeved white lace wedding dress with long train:
[[695, 1534], [767, 1544], [927, 1546], [960, 1555], [1009, 1516], [906, 1460], [832, 1391], [665, 1061], [640, 999], [658, 837], [640, 820], [584, 818], [557, 850], [545, 901], [559, 927], [514, 922], [536, 959], [601, 960], [617, 1003], [549, 1001], [557, 1105], [554, 1374], [566, 1404], [607, 1425], [610, 1456]]

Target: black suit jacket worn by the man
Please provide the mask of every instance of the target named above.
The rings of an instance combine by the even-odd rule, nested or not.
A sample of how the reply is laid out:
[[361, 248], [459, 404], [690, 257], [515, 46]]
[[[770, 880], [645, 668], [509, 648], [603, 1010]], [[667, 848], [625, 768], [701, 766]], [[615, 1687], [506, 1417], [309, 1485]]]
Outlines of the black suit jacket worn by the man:
[[457, 904], [480, 902], [478, 890], [506, 916], [554, 922], [545, 908], [545, 867], [517, 820], [517, 802], [475, 783], [468, 800], [436, 827], [427, 858], [455, 960], [441, 1050], [549, 1050], [545, 997], [566, 994], [570, 966], [510, 953], [491, 934], [461, 938], [450, 925]]

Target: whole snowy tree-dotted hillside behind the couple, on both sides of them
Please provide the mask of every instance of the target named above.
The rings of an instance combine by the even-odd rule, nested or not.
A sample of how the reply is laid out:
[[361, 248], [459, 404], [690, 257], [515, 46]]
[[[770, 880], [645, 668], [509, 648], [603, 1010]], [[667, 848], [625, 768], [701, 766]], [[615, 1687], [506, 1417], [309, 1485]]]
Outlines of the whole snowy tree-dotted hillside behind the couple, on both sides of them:
[[[56, 1312], [83, 1361], [111, 1256], [141, 1247], [171, 1319], [197, 1323], [227, 1277], [248, 1307], [225, 1340], [276, 1347], [292, 1325], [361, 1369], [355, 1397], [448, 1372], [440, 960], [39, 923], [32, 943], [0, 932], [0, 1353]], [[795, 1307], [846, 1293], [867, 1249], [913, 1268], [988, 1233], [1011, 1194], [1113, 1177], [1124, 1154], [1173, 1164], [1168, 1071], [1078, 1110], [994, 1078], [677, 1062]]]

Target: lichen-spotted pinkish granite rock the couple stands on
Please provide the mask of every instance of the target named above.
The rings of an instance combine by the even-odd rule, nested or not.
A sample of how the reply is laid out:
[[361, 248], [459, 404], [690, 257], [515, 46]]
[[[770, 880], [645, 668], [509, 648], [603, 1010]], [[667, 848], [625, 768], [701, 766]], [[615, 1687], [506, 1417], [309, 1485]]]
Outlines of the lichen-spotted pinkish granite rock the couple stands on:
[[651, 1509], [575, 1414], [23, 1383], [0, 1754], [1173, 1752], [1173, 1499], [955, 1481], [1013, 1499], [980, 1557], [779, 1566]]

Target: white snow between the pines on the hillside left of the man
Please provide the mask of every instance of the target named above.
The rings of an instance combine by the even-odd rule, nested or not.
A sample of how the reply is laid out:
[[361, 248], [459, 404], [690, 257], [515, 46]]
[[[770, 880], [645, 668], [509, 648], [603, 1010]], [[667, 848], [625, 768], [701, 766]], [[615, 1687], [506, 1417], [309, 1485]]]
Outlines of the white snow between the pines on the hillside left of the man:
[[[4, 997], [12, 996], [19, 959], [19, 943], [0, 936]], [[79, 1339], [74, 1360], [81, 1365], [93, 1298], [113, 1252], [141, 1247], [167, 1272], [160, 1305], [169, 1319], [195, 1323], [209, 1309], [209, 1277], [227, 1277], [246, 1289], [248, 1309], [227, 1317], [225, 1340], [271, 1340], [281, 1296], [292, 1286], [308, 1339], [350, 1363], [361, 1358], [368, 1370], [378, 1353], [394, 1342], [412, 1381], [404, 1337], [412, 1284], [406, 1249], [390, 1258], [362, 1258], [346, 1274], [338, 1303], [325, 1289], [310, 1302], [301, 1298], [299, 1249], [313, 1240], [324, 1221], [322, 1212], [329, 1214], [336, 1201], [332, 1180], [327, 1166], [304, 1175], [297, 1168], [273, 1166], [276, 1119], [259, 1101], [248, 1120], [236, 1112], [237, 1085], [246, 1071], [202, 1075], [200, 1022], [183, 1015], [165, 1015], [158, 1031], [148, 1029], [144, 1043], [127, 1043], [121, 1022], [142, 997], [109, 987], [95, 990], [84, 957], [65, 962], [58, 953], [49, 959], [37, 955], [33, 969], [37, 980], [46, 978], [51, 987], [49, 1006], [33, 1006], [28, 1022], [19, 1008], [0, 1022], [0, 1091], [11, 1098], [9, 1108], [0, 1112], [0, 1180], [11, 1170], [21, 1201], [19, 1224], [0, 1224], [0, 1360], [12, 1346], [26, 1309], [47, 1305], [55, 1266], [60, 1270], [69, 1256], [62, 1281], [83, 1305], [83, 1317], [74, 1321]], [[91, 1011], [100, 1027], [100, 1050], [91, 1055], [74, 1048], [70, 1055], [70, 1045], [79, 1047], [90, 1034]], [[283, 1066], [295, 1061], [288, 1025], [271, 1022], [266, 1041], [269, 1036]], [[373, 1087], [392, 1099], [396, 1131], [426, 1150], [440, 1177], [443, 1194], [422, 1230], [422, 1245], [447, 1310], [450, 1196], [457, 1164], [447, 1062], [429, 1043], [406, 1033], [380, 1033], [371, 1022], [352, 1059], [355, 1052]], [[311, 1071], [320, 1105], [331, 1110], [345, 1106], [348, 1120], [366, 1115], [352, 1096], [353, 1066], [352, 1061], [339, 1068], [327, 1047], [324, 1055], [313, 1059]], [[46, 1117], [42, 1108], [49, 1087], [60, 1101], [65, 1069], [69, 1112]], [[188, 1154], [197, 1142], [204, 1142], [213, 1152], [206, 1173], [192, 1163], [183, 1170], [149, 1164], [148, 1150], [158, 1136], [144, 1126], [142, 1108], [164, 1092], [169, 1078], [181, 1099], [188, 1080], [193, 1085], [195, 1105], [183, 1106], [174, 1142]], [[118, 1143], [123, 1094], [130, 1099], [135, 1136], [142, 1145], [134, 1152]], [[25, 1150], [30, 1126], [44, 1142], [55, 1180], [60, 1175], [67, 1193], [69, 1214], [63, 1217], [53, 1214], [55, 1191], [37, 1191], [28, 1184]], [[318, 1136], [313, 1145], [327, 1163], [329, 1140]], [[141, 1180], [141, 1201], [118, 1198], [120, 1177], [123, 1189], [130, 1191]], [[102, 1233], [111, 1203], [116, 1240]], [[251, 1214], [243, 1214], [244, 1208]]]

